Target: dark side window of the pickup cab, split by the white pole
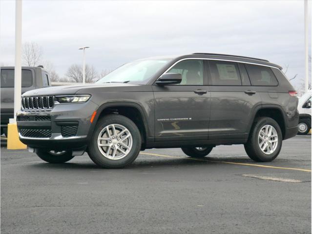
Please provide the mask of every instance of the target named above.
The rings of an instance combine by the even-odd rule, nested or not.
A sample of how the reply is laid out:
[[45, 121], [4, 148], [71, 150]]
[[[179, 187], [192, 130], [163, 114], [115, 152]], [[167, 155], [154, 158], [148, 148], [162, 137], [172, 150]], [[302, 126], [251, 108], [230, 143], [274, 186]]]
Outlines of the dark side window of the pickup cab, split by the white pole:
[[[30, 70], [21, 70], [21, 87], [33, 85], [33, 74]], [[1, 70], [1, 88], [14, 87], [14, 69]]]

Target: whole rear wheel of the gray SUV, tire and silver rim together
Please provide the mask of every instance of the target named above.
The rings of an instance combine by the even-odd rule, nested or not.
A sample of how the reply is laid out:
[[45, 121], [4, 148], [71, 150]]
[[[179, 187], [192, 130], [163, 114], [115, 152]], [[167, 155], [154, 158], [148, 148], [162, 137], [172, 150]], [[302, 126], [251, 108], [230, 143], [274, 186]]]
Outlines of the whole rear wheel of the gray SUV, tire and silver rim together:
[[281, 151], [282, 138], [281, 128], [274, 119], [258, 117], [251, 128], [249, 139], [244, 145], [245, 151], [254, 161], [270, 162]]

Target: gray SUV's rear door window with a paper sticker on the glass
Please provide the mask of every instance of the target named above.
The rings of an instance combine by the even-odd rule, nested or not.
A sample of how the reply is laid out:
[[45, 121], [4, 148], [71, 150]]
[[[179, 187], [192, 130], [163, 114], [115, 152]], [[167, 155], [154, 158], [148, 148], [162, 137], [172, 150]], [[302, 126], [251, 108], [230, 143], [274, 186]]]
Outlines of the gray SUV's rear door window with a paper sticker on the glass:
[[209, 61], [211, 85], [241, 85], [236, 62]]

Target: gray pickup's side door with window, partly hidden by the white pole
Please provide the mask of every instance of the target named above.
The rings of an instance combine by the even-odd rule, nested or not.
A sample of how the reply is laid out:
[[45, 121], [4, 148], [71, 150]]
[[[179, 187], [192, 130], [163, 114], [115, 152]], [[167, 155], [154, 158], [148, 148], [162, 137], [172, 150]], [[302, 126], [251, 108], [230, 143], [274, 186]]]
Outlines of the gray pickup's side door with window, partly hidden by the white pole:
[[[14, 69], [1, 69], [1, 124], [9, 122], [14, 113]], [[36, 88], [34, 70], [22, 69], [21, 93]]]

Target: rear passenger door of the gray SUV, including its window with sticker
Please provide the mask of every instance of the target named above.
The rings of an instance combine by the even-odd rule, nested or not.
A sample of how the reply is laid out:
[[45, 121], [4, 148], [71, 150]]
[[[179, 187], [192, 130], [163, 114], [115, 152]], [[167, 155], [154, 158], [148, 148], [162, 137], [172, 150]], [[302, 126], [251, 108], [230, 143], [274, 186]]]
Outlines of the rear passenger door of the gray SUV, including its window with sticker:
[[260, 94], [250, 86], [242, 63], [209, 60], [208, 81], [211, 92], [209, 139], [245, 138]]

